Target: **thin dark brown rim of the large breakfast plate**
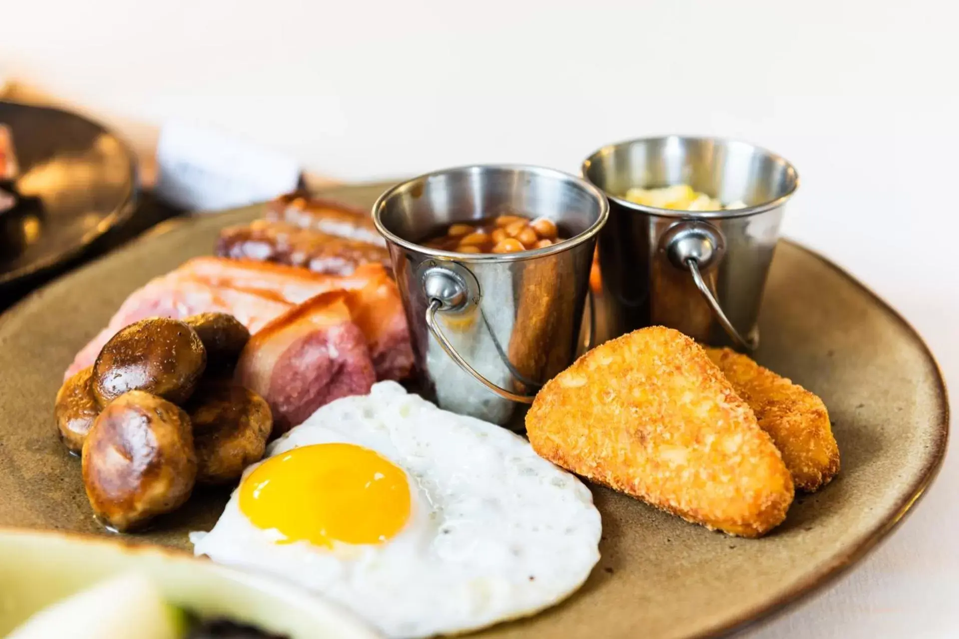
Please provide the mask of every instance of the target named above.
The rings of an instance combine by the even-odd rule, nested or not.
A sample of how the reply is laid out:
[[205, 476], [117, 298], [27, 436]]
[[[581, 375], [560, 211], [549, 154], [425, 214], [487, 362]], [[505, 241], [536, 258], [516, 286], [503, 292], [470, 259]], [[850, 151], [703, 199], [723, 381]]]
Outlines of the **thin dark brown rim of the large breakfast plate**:
[[[378, 184], [379, 183], [339, 185], [338, 187], [333, 187], [331, 189], [324, 189], [318, 193], [325, 194], [327, 192], [337, 192], [344, 189], [349, 190], [351, 187], [370, 187]], [[207, 221], [213, 217], [222, 217], [224, 215], [235, 214], [241, 210], [249, 211], [258, 206], [261, 205], [257, 204], [229, 211], [217, 212], [212, 216], [209, 214], [204, 214], [199, 217], [180, 218], [172, 221], [169, 224], [161, 223], [159, 227], [154, 227], [150, 231], [142, 234], [134, 240], [127, 242], [120, 247], [119, 250], [133, 250], [133, 247], [142, 244], [145, 241], [149, 241], [156, 236], [166, 235], [167, 233], [173, 232], [184, 225]], [[877, 522], [877, 525], [874, 526], [872, 530], [870, 530], [858, 543], [847, 548], [844, 552], [837, 554], [836, 557], [830, 560], [828, 565], [820, 570], [817, 570], [814, 574], [807, 576], [805, 580], [789, 588], [786, 592], [775, 599], [770, 599], [761, 605], [757, 605], [753, 609], [737, 615], [735, 618], [730, 619], [729, 621], [713, 625], [712, 628], [706, 628], [698, 633], [684, 635], [683, 639], [720, 639], [748, 628], [759, 628], [760, 626], [768, 624], [778, 616], [784, 614], [784, 612], [794, 608], [796, 605], [801, 604], [810, 595], [821, 593], [821, 591], [830, 583], [834, 583], [840, 578], [848, 575], [851, 568], [853, 568], [857, 563], [859, 563], [859, 561], [874, 551], [879, 543], [885, 539], [888, 539], [889, 536], [891, 536], [891, 534], [898, 529], [905, 517], [913, 512], [915, 505], [924, 497], [927, 489], [938, 476], [947, 453], [949, 439], [949, 403], [946, 380], [943, 376], [942, 368], [939, 365], [939, 362], [929, 349], [922, 333], [917, 331], [915, 327], [913, 327], [912, 324], [910, 324], [896, 308], [893, 308], [884, 299], [877, 295], [872, 288], [856, 279], [843, 267], [831, 261], [829, 258], [824, 257], [820, 252], [808, 248], [796, 240], [780, 238], [779, 241], [789, 244], [798, 250], [807, 253], [814, 259], [823, 262], [827, 267], [830, 268], [830, 270], [844, 277], [853, 285], [858, 286], [873, 300], [878, 307], [887, 310], [889, 314], [901, 325], [901, 327], [912, 336], [917, 345], [921, 348], [927, 361], [931, 364], [934, 377], [932, 383], [936, 387], [935, 401], [938, 404], [938, 415], [935, 418], [938, 423], [933, 425], [934, 432], [936, 434], [935, 443], [927, 462], [922, 468], [922, 471], [919, 473], [916, 480], [911, 483], [908, 491], [905, 492], [903, 498], [897, 504], [893, 513]], [[43, 285], [26, 295], [24, 298], [16, 302], [16, 304], [14, 304], [11, 308], [8, 308], [3, 313], [0, 313], [0, 329], [2, 329], [14, 315], [17, 315], [21, 312], [26, 312], [29, 307], [32, 307], [36, 302], [38, 302], [44, 296], [45, 289], [48, 286], [56, 284], [63, 277], [67, 277], [72, 273], [82, 270], [83, 268], [90, 267], [94, 263], [105, 260], [108, 256], [112, 255], [112, 253], [113, 252], [104, 256], [100, 256], [92, 262], [87, 262], [79, 269], [64, 273], [62, 276], [56, 278], [52, 282], [47, 283], [46, 285]], [[166, 546], [162, 546], [162, 544], [148, 543], [148, 545], [157, 545], [166, 548]]]

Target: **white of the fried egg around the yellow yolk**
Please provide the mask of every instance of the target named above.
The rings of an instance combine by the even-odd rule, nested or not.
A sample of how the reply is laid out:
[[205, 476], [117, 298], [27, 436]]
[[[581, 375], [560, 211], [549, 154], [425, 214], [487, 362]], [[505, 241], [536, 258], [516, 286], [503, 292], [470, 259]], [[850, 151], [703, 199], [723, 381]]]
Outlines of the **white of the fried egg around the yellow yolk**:
[[316, 590], [390, 637], [532, 614], [572, 593], [599, 559], [590, 491], [500, 426], [385, 381], [368, 396], [323, 406], [267, 453], [324, 443], [363, 445], [406, 472], [410, 516], [397, 536], [332, 550], [276, 544], [275, 531], [240, 511], [234, 491], [213, 530], [191, 535], [196, 554]]

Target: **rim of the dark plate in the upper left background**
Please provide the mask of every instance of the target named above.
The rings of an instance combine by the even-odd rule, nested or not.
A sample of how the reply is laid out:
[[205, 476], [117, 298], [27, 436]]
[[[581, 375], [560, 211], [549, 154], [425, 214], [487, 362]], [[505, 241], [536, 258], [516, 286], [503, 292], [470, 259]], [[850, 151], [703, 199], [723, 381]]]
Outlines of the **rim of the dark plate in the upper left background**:
[[[104, 221], [106, 221], [107, 224], [103, 225], [104, 226], [103, 229], [101, 229], [100, 228], [101, 225], [98, 224], [97, 227], [94, 228], [92, 232], [83, 236], [81, 240], [78, 243], [74, 244], [73, 246], [64, 248], [63, 250], [52, 253], [49, 256], [46, 256], [40, 260], [36, 260], [35, 262], [30, 262], [29, 264], [25, 264], [21, 266], [20, 268], [14, 269], [12, 271], [0, 272], [0, 286], [7, 286], [7, 285], [13, 285], [18, 282], [23, 282], [24, 280], [28, 278], [34, 277], [35, 275], [39, 275], [45, 271], [49, 271], [53, 268], [56, 268], [58, 265], [61, 265], [76, 259], [77, 257], [81, 256], [82, 253], [86, 251], [91, 244], [93, 244], [97, 240], [100, 240], [107, 233], [109, 233], [110, 231], [113, 231], [120, 224], [122, 224], [123, 222], [127, 221], [130, 217], [132, 217], [133, 211], [136, 209], [136, 203], [138, 199], [137, 185], [139, 183], [140, 177], [139, 177], [139, 171], [138, 171], [137, 162], [136, 162], [136, 155], [133, 153], [132, 148], [130, 148], [129, 143], [123, 137], [121, 137], [116, 132], [114, 132], [112, 129], [107, 128], [102, 123], [98, 122], [97, 120], [89, 118], [85, 115], [81, 115], [80, 113], [75, 113], [74, 111], [58, 108], [56, 106], [47, 106], [44, 104], [22, 103], [22, 102], [17, 102], [15, 100], [0, 100], [0, 104], [11, 104], [13, 106], [20, 106], [20, 107], [25, 107], [29, 109], [39, 110], [39, 111], [55, 111], [57, 113], [60, 113], [69, 117], [78, 118], [80, 120], [87, 122], [88, 124], [96, 126], [101, 131], [103, 131], [104, 133], [111, 136], [113, 139], [117, 141], [117, 143], [120, 145], [120, 148], [123, 150], [123, 153], [127, 158], [127, 163], [129, 165], [129, 181], [127, 183], [127, 193], [124, 194], [123, 199], [119, 203], [117, 203], [117, 205], [113, 208], [113, 210], [104, 217]], [[9, 308], [8, 310], [12, 310], [12, 307]]]

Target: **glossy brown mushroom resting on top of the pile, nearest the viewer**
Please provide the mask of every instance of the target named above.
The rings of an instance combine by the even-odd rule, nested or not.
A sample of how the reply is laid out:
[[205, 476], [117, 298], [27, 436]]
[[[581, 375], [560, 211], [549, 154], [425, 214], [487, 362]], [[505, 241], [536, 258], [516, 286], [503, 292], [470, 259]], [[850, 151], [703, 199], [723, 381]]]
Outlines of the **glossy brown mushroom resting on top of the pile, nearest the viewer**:
[[165, 317], [140, 320], [106, 342], [93, 364], [93, 394], [101, 406], [133, 390], [180, 404], [205, 368], [206, 351], [192, 328]]

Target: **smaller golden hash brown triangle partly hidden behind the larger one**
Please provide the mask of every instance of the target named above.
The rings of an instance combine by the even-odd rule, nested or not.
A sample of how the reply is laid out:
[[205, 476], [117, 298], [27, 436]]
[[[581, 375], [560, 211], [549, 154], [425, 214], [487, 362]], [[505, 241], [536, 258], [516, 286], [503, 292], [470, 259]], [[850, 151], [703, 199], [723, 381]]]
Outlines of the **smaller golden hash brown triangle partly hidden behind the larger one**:
[[773, 438], [796, 488], [815, 491], [828, 484], [839, 472], [839, 446], [823, 400], [746, 355], [713, 348], [706, 354]]

